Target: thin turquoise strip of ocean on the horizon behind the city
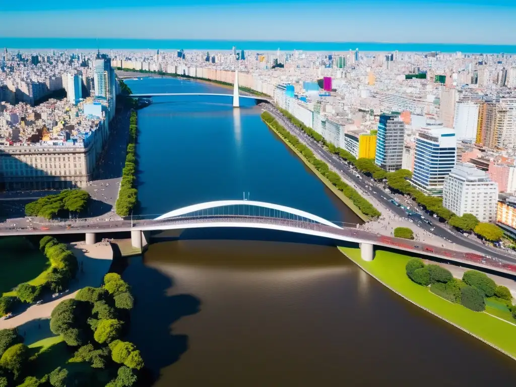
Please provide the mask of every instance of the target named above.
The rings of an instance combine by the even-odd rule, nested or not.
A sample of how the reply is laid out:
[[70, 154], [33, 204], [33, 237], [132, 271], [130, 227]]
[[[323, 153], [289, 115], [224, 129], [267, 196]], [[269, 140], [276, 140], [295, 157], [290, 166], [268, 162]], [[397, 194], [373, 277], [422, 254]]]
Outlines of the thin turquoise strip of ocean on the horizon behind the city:
[[95, 38], [2, 38], [0, 47], [11, 50], [238, 50], [344, 52], [431, 52], [464, 54], [516, 53], [516, 45], [461, 43], [382, 43], [382, 42], [289, 42], [243, 40], [172, 40], [172, 39], [95, 39]]

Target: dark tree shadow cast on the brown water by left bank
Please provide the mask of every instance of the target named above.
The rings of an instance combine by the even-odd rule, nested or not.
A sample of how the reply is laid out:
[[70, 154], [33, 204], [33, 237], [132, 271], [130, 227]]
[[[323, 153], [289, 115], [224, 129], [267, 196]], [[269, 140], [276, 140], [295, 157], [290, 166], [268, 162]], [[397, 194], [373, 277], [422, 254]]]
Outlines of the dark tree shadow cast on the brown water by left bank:
[[178, 361], [188, 349], [188, 336], [174, 334], [174, 322], [198, 313], [201, 301], [189, 294], [171, 295], [170, 278], [144, 266], [141, 257], [133, 259], [123, 278], [133, 287], [136, 299], [127, 340], [138, 347], [154, 377], [158, 377], [160, 369]]

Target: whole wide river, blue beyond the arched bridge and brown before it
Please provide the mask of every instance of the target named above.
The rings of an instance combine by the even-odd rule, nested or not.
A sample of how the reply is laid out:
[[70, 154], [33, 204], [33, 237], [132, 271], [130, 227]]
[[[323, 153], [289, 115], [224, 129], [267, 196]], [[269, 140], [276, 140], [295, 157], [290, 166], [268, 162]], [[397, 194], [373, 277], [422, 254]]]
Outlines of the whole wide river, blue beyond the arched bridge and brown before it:
[[[133, 92], [228, 92], [170, 78]], [[155, 99], [138, 112], [140, 214], [221, 199], [358, 222], [260, 120], [251, 102]], [[307, 242], [314, 242], [307, 244]], [[304, 243], [303, 243], [304, 242]], [[508, 385], [508, 357], [414, 307], [332, 246], [253, 230], [189, 231], [123, 273], [129, 339], [156, 386]]]

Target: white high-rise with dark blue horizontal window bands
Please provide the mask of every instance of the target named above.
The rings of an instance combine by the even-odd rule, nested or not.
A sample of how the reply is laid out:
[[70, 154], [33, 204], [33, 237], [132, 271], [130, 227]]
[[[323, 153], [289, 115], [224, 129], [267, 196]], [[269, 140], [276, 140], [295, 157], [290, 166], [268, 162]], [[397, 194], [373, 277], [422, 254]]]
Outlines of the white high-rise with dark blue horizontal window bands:
[[457, 160], [457, 140], [451, 128], [428, 125], [416, 137], [411, 183], [426, 195], [441, 196], [446, 176]]

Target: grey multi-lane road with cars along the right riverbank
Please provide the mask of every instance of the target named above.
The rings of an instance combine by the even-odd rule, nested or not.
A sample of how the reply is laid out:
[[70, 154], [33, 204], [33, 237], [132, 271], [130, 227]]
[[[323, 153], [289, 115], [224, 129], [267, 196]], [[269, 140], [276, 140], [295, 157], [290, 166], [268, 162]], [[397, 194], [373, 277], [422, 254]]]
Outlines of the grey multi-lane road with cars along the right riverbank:
[[[391, 199], [396, 200], [398, 203], [400, 202], [400, 200], [407, 199], [401, 199], [401, 195], [392, 195], [391, 193], [386, 192], [384, 189], [385, 187], [382, 187], [379, 183], [372, 181], [371, 178], [368, 178], [366, 175], [356, 170], [352, 165], [348, 165], [341, 157], [338, 157], [328, 152], [328, 150], [326, 150], [326, 148], [324, 148], [324, 146], [321, 143], [318, 143], [313, 138], [304, 133], [302, 130], [300, 130], [297, 126], [292, 124], [287, 118], [285, 118], [281, 114], [279, 110], [273, 107], [273, 105], [265, 103], [260, 105], [263, 109], [267, 110], [268, 112], [270, 112], [270, 114], [275, 116], [276, 120], [280, 122], [283, 125], [283, 127], [285, 127], [289, 132], [291, 132], [291, 134], [295, 135], [306, 146], [308, 146], [318, 158], [324, 160], [334, 170], [339, 171], [341, 175], [344, 175], [346, 180], [352, 182], [355, 186], [359, 187], [362, 190], [361, 193], [364, 198], [367, 199], [368, 196], [373, 196], [378, 202], [381, 203], [381, 205], [384, 208], [388, 208], [390, 211], [392, 211], [399, 217], [407, 218], [407, 213], [404, 209], [389, 202], [389, 200]], [[361, 179], [357, 178], [357, 174], [361, 176]], [[369, 186], [372, 186], [372, 190], [369, 190]], [[367, 192], [368, 195], [366, 195], [365, 192]], [[382, 196], [385, 199], [383, 199]], [[417, 204], [415, 202], [413, 202], [412, 200], [407, 201], [411, 204], [411, 209], [414, 209], [414, 207], [417, 208]], [[380, 210], [380, 212], [382, 211], [382, 208], [378, 209]], [[478, 251], [489, 256], [497, 257], [498, 259], [504, 261], [516, 262], [516, 256], [512, 255], [512, 252], [511, 254], [508, 254], [508, 252], [504, 250], [488, 248], [479, 241], [473, 241], [464, 236], [459, 237], [458, 232], [449, 231], [448, 229], [446, 229], [444, 225], [442, 225], [439, 222], [438, 219], [433, 218], [428, 214], [425, 214], [421, 208], [418, 209], [420, 210], [420, 213], [422, 215], [426, 215], [426, 218], [433, 223], [433, 226], [425, 222], [422, 222], [422, 224], [417, 222], [412, 223], [414, 226], [417, 226], [421, 230], [439, 236], [445, 240], [451, 241], [452, 243], [466, 247], [468, 249]]]

